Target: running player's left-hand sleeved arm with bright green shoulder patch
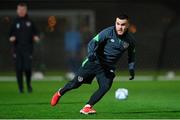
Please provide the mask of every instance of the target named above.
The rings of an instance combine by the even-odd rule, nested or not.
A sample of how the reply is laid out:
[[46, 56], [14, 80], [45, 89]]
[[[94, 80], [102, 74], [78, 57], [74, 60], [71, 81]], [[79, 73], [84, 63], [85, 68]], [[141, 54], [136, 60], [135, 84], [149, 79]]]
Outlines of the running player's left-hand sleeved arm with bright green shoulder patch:
[[96, 50], [100, 43], [107, 39], [110, 29], [106, 28], [100, 33], [98, 33], [89, 43], [88, 43], [88, 59], [89, 61], [96, 60]]

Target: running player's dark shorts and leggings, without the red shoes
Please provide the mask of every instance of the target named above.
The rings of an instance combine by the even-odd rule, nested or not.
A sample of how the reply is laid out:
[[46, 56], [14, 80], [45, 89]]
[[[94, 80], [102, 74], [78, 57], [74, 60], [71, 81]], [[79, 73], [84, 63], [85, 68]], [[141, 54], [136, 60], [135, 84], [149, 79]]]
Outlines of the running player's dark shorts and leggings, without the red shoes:
[[115, 77], [114, 70], [95, 62], [87, 61], [81, 66], [75, 78], [60, 90], [60, 94], [64, 95], [66, 92], [80, 87], [83, 83], [90, 84], [94, 77], [97, 78], [99, 88], [93, 93], [87, 104], [95, 105], [111, 88]]

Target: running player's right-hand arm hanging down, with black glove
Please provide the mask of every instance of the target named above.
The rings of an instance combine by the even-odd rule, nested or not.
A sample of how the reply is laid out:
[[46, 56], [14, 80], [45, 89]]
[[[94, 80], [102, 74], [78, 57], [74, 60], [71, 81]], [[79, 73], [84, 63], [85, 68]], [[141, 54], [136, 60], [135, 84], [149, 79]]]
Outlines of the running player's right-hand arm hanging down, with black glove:
[[129, 80], [133, 80], [135, 77], [135, 41], [133, 41], [128, 48], [128, 67], [130, 78]]

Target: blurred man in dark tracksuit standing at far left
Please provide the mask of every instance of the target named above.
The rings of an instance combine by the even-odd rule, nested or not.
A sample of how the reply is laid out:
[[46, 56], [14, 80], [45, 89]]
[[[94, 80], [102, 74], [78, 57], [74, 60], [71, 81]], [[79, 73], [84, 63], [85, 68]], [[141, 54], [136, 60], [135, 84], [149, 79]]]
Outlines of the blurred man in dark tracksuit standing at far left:
[[33, 21], [28, 17], [26, 3], [17, 5], [17, 18], [13, 21], [9, 40], [12, 43], [13, 58], [15, 60], [16, 78], [19, 92], [24, 92], [23, 73], [26, 76], [27, 90], [32, 92], [32, 53], [33, 43], [38, 42], [39, 36]]

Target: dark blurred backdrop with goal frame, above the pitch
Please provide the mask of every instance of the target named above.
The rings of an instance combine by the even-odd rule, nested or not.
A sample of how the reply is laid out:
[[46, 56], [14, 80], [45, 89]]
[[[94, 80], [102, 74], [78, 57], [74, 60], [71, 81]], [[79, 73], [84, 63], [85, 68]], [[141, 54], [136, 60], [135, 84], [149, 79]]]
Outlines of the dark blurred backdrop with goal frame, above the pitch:
[[[30, 17], [39, 28], [41, 43], [35, 45], [34, 69], [66, 70], [64, 34], [67, 28], [79, 30], [85, 39], [82, 45], [102, 29], [114, 25], [115, 17], [126, 12], [135, 26], [137, 40], [137, 69], [180, 68], [180, 12], [179, 2], [157, 1], [35, 1], [28, 2]], [[0, 2], [0, 71], [13, 70], [8, 33], [15, 18], [17, 2]], [[87, 37], [87, 32], [89, 36]], [[85, 47], [84, 47], [85, 48]], [[84, 48], [82, 51], [84, 51]], [[84, 52], [80, 54], [82, 60]], [[118, 67], [127, 69], [127, 55]]]

